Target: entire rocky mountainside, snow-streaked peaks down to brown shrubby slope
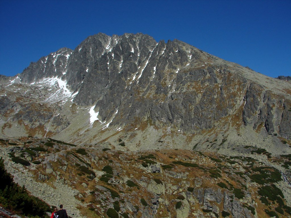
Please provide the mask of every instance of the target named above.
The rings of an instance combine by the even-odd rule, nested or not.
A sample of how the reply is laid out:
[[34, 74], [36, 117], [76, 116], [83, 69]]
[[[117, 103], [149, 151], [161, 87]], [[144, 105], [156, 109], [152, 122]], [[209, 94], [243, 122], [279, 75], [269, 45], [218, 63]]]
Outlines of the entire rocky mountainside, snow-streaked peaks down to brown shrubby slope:
[[98, 33], [1, 75], [0, 127], [14, 180], [71, 217], [290, 217], [290, 78], [179, 40]]

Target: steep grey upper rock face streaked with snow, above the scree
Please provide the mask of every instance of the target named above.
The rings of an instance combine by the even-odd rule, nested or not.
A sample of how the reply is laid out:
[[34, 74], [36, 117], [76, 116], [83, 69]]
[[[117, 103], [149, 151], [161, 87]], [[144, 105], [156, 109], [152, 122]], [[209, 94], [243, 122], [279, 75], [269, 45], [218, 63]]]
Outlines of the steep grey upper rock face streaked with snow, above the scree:
[[[200, 134], [237, 114], [237, 123], [254, 131], [264, 126], [267, 134], [290, 139], [288, 81], [270, 80], [179, 40], [98, 33], [74, 51], [62, 48], [32, 62], [10, 82], [3, 76], [0, 80], [10, 84], [2, 86], [3, 94], [13, 92], [1, 94], [1, 116], [10, 111], [3, 121], [52, 126], [52, 133], [75, 128], [67, 127], [77, 108], [93, 107], [91, 113], [111, 129], [129, 131], [150, 121], [157, 128]], [[23, 87], [13, 89], [11, 84]], [[69, 100], [71, 108], [60, 111]], [[49, 104], [41, 106], [45, 108], [54, 103], [53, 110], [34, 110], [32, 101]]]

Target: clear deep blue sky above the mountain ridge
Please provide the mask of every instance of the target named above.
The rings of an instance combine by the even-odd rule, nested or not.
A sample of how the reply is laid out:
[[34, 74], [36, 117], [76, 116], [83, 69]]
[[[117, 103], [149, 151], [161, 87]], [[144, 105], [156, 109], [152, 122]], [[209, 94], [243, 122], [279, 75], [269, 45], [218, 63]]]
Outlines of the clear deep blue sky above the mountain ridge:
[[291, 76], [291, 1], [0, 1], [0, 74], [89, 35], [178, 39], [271, 77]]

